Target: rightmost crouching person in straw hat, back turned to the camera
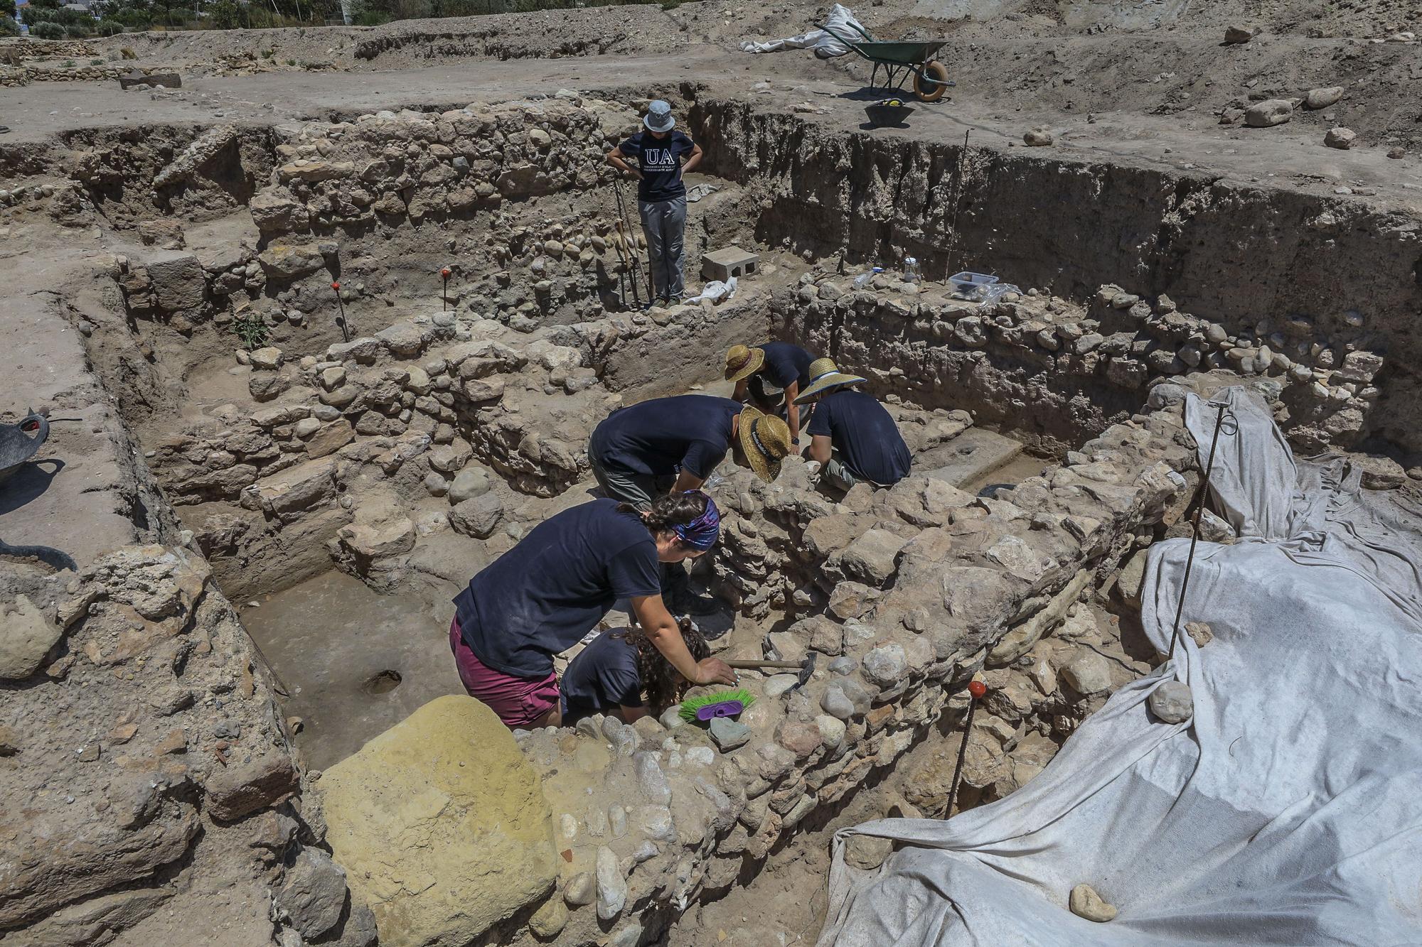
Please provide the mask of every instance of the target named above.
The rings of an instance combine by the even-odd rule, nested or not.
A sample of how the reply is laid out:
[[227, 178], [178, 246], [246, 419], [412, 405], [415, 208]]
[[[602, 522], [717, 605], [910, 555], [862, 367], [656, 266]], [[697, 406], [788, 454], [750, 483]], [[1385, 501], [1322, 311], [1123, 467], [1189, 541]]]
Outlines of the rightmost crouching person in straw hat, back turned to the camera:
[[909, 475], [909, 445], [879, 401], [855, 385], [829, 358], [809, 368], [809, 387], [796, 398], [813, 404], [809, 421], [809, 459], [820, 465], [820, 479], [842, 491], [855, 483], [893, 486]]

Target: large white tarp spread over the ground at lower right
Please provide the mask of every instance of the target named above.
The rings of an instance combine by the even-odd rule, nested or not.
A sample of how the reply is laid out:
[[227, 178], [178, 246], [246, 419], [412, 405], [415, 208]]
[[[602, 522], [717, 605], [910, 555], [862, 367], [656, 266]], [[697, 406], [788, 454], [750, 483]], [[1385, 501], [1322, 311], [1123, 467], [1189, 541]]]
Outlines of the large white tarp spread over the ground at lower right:
[[[1243, 388], [1217, 398], [1212, 491], [1246, 532], [1200, 543], [1182, 634], [1022, 789], [951, 820], [835, 840], [822, 947], [1422, 943], [1422, 510], [1364, 493], [1342, 459], [1297, 462]], [[1202, 466], [1214, 410], [1190, 395]], [[1169, 648], [1189, 540], [1150, 550], [1142, 623]], [[1194, 719], [1155, 721], [1177, 677]], [[900, 839], [880, 869], [849, 833]], [[1098, 924], [1066, 899], [1119, 909]]]

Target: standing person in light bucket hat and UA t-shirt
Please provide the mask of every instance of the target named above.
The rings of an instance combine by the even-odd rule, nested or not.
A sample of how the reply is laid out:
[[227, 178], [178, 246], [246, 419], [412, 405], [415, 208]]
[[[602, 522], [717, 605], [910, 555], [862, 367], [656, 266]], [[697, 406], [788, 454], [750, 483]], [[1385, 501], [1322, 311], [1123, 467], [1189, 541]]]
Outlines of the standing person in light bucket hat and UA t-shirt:
[[[685, 293], [687, 186], [681, 175], [701, 164], [701, 146], [677, 131], [671, 105], [660, 98], [647, 107], [641, 124], [644, 131], [607, 152], [607, 164], [638, 182], [637, 209], [647, 236], [656, 296], [674, 304]], [[637, 162], [636, 168], [627, 164], [629, 158]]]

